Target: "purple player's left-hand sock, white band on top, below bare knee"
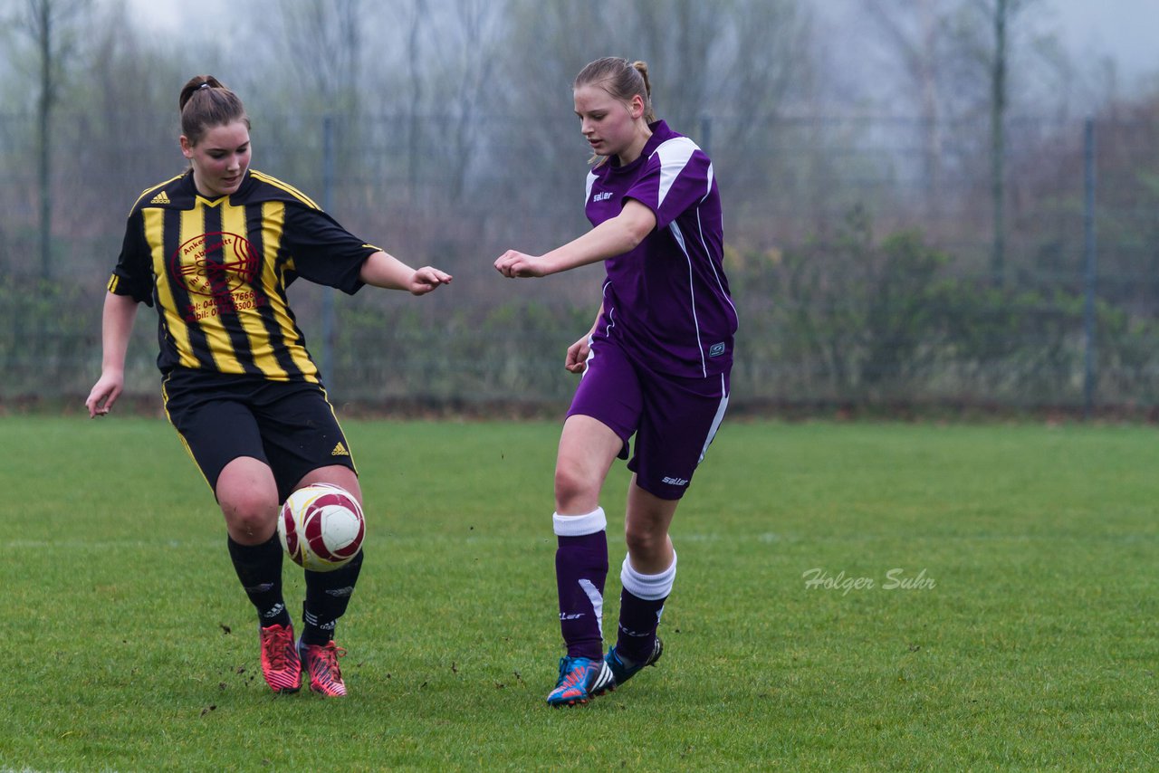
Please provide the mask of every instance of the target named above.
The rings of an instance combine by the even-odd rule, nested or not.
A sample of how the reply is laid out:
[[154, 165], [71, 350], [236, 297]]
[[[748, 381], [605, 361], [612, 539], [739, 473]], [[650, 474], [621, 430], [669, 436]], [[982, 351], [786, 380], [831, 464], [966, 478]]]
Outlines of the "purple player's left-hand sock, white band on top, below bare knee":
[[559, 548], [555, 583], [560, 630], [568, 657], [604, 656], [604, 582], [607, 579], [607, 520], [603, 509], [585, 516], [554, 516]]

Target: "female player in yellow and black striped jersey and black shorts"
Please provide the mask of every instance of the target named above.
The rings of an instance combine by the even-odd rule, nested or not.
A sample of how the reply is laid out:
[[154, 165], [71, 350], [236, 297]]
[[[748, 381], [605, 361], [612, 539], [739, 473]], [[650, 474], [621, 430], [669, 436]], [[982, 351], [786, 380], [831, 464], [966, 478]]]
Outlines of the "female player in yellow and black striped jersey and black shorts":
[[411, 269], [352, 236], [305, 195], [249, 168], [249, 118], [217, 79], [181, 90], [181, 152], [190, 168], [133, 205], [104, 300], [101, 378], [89, 416], [109, 413], [140, 302], [155, 306], [169, 421], [213, 490], [229, 557], [257, 608], [262, 672], [296, 692], [301, 671], [323, 695], [344, 695], [334, 642], [363, 553], [306, 571], [301, 639], [282, 596], [279, 503], [327, 482], [362, 491], [350, 446], [286, 298], [297, 277], [355, 293], [364, 284], [428, 293], [451, 282]]

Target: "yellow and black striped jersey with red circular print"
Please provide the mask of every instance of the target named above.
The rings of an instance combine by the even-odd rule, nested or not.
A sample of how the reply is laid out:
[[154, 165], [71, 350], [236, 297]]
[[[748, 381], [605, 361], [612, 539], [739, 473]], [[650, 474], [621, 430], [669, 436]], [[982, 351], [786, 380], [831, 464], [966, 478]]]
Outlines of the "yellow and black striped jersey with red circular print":
[[352, 294], [378, 249], [261, 172], [212, 200], [187, 172], [133, 205], [109, 292], [156, 307], [162, 372], [318, 381], [286, 287], [301, 276]]

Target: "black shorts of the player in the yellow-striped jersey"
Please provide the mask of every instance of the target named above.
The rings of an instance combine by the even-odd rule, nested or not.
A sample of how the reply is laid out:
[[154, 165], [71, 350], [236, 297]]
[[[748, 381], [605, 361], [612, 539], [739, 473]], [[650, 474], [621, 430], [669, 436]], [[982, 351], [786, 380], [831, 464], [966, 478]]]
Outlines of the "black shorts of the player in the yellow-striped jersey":
[[319, 467], [358, 472], [319, 384], [178, 367], [165, 377], [161, 393], [169, 422], [214, 493], [221, 471], [238, 457], [269, 465], [279, 502]]

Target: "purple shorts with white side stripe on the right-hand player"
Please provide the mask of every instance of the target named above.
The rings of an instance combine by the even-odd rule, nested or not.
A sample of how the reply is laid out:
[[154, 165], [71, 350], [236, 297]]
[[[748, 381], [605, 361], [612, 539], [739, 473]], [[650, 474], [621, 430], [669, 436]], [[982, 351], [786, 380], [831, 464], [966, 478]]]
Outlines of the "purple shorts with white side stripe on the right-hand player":
[[[624, 440], [620, 459], [628, 459], [636, 486], [662, 499], [679, 499], [724, 418], [728, 394], [727, 372], [702, 379], [656, 373], [599, 338], [591, 344], [568, 416], [606, 424]], [[636, 453], [629, 459], [633, 435]]]

